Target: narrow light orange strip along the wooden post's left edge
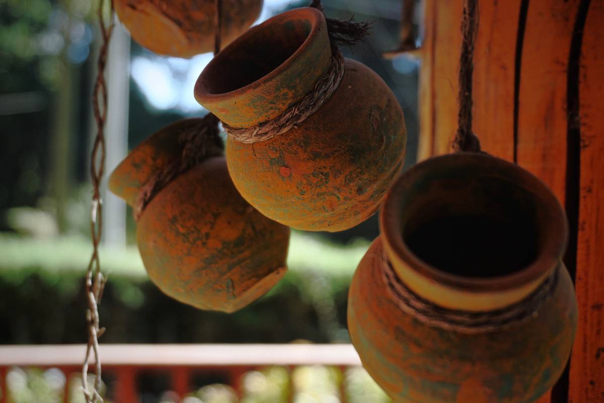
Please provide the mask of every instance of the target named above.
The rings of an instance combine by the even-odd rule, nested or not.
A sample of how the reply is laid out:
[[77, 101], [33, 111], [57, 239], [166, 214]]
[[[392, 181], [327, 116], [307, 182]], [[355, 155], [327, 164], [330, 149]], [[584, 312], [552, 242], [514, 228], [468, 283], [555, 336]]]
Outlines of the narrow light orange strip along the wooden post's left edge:
[[419, 51], [422, 68], [419, 74], [419, 140], [417, 144], [417, 161], [425, 160], [432, 155], [434, 146], [434, 44], [436, 30], [436, 5], [426, 0], [424, 4], [424, 36]]

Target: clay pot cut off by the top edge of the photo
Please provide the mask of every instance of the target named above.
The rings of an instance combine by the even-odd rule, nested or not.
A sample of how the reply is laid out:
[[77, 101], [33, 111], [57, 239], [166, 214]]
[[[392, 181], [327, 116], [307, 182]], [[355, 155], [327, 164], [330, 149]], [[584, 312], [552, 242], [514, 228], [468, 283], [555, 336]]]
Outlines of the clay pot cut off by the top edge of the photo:
[[[222, 0], [224, 47], [245, 32], [262, 0]], [[215, 0], [115, 0], [115, 11], [132, 38], [165, 56], [191, 57], [214, 50]]]

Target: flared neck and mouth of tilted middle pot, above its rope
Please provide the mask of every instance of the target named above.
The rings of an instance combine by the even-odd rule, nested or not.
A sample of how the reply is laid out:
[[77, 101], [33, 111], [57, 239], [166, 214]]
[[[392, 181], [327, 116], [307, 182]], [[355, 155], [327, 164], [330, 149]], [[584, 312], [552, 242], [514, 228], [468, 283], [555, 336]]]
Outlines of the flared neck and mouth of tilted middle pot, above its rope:
[[200, 74], [195, 98], [230, 126], [255, 126], [311, 92], [331, 57], [323, 13], [310, 7], [286, 11], [220, 51]]

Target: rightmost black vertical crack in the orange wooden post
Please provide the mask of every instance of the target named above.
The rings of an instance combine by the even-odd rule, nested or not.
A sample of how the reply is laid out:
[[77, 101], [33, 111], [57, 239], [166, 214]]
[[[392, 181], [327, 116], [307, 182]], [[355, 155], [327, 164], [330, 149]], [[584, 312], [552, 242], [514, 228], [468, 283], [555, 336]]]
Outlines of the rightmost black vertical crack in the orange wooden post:
[[[567, 69], [567, 166], [565, 178], [565, 210], [568, 216], [568, 247], [564, 263], [573, 282], [577, 274], [577, 242], [579, 233], [579, 201], [581, 173], [581, 126], [579, 100], [580, 59], [583, 28], [591, 0], [581, 0], [574, 20], [573, 37], [568, 54]], [[551, 393], [551, 403], [568, 402], [570, 362], [562, 372]]]

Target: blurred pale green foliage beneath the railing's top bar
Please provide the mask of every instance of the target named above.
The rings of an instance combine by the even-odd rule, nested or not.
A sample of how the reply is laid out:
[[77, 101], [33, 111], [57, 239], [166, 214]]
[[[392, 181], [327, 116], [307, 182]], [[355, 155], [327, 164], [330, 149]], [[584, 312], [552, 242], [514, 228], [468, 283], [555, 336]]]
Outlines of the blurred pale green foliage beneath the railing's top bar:
[[[7, 375], [8, 403], [63, 402], [65, 382], [68, 382], [67, 401], [84, 403], [78, 373], [71, 374], [66, 380], [65, 375], [56, 368], [40, 370], [13, 367]], [[250, 370], [243, 374], [240, 381], [241, 398], [233, 387], [209, 384], [191, 392], [182, 401], [174, 392], [166, 390], [159, 396], [146, 393], [143, 403], [338, 403], [342, 395], [349, 403], [391, 403], [390, 398], [361, 367], [339, 369], [303, 366], [290, 370], [273, 366]], [[91, 377], [89, 383], [92, 382]], [[115, 397], [111, 384], [109, 387], [102, 384], [100, 392], [106, 403], [111, 403], [112, 397]]]

